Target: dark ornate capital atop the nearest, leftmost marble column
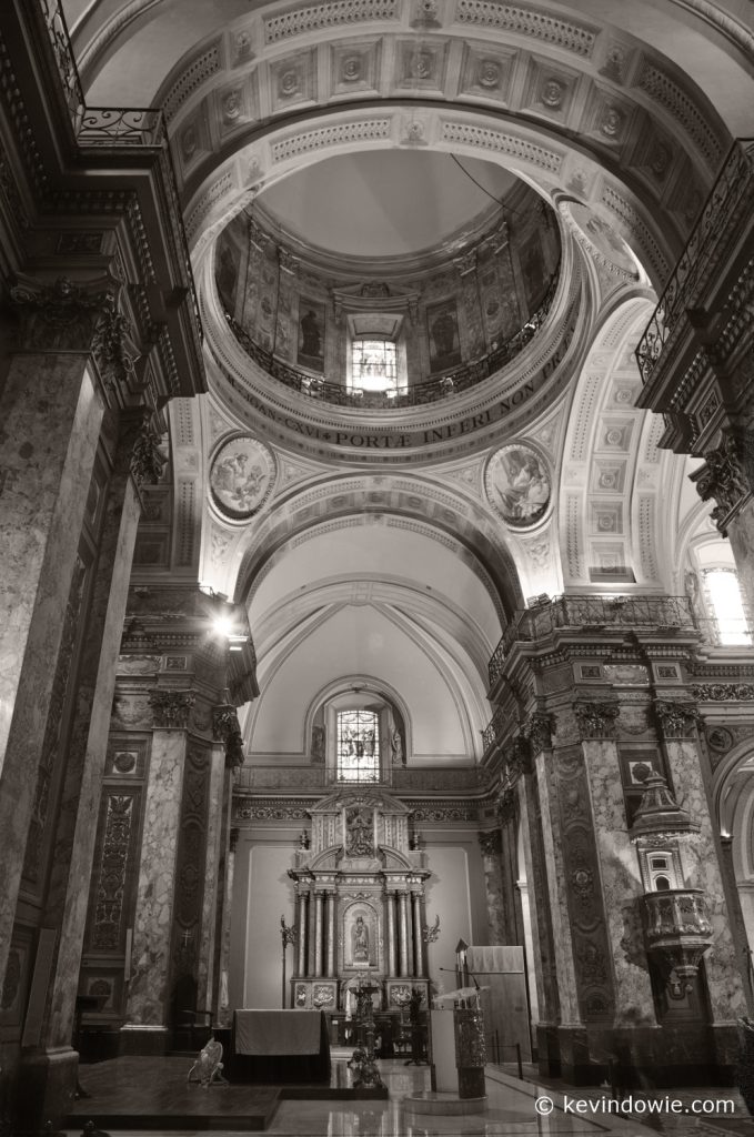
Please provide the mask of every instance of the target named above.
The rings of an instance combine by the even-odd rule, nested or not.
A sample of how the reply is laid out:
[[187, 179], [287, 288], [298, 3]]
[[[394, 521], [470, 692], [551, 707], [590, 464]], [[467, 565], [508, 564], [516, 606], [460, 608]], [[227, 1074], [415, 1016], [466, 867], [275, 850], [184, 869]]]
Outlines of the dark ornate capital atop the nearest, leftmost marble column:
[[23, 281], [10, 290], [26, 351], [91, 351], [99, 322], [113, 307], [103, 280], [74, 284], [59, 276], [55, 284]]

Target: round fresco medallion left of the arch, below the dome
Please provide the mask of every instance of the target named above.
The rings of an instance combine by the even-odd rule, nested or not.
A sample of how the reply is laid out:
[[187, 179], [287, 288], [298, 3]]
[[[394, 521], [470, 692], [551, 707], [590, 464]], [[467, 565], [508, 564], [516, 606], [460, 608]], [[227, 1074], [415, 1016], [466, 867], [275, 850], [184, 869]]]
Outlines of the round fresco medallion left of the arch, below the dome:
[[223, 442], [209, 474], [213, 501], [232, 521], [246, 521], [257, 513], [270, 497], [274, 481], [275, 459], [250, 434], [237, 434]]

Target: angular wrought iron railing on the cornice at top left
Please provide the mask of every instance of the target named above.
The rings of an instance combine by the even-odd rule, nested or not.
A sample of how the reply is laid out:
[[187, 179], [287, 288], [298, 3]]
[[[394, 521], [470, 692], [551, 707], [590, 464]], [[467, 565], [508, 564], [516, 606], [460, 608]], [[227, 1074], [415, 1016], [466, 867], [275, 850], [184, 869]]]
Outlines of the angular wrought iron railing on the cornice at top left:
[[167, 141], [165, 116], [161, 109], [151, 107], [88, 107], [60, 0], [38, 0], [38, 3], [78, 146], [134, 147], [158, 152], [163, 184], [168, 199], [166, 202], [167, 216], [183, 262], [185, 287], [191, 296], [191, 306], [201, 338], [199, 299], [183, 225], [183, 210], [177, 191], [175, 167]]

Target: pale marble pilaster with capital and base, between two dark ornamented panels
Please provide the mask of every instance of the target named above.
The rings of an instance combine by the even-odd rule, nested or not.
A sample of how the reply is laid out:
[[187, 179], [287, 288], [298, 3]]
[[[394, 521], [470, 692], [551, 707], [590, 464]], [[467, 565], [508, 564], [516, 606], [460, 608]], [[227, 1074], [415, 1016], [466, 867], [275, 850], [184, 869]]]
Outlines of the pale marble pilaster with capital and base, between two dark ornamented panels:
[[[187, 760], [187, 720], [193, 695], [158, 691], [172, 699], [167, 720], [155, 705], [149, 779], [136, 886], [136, 914], [131, 951], [131, 982], [126, 1022], [122, 1029], [125, 1053], [164, 1053], [169, 1010], [173, 902], [176, 883], [181, 802]], [[167, 721], [171, 725], [163, 725]]]

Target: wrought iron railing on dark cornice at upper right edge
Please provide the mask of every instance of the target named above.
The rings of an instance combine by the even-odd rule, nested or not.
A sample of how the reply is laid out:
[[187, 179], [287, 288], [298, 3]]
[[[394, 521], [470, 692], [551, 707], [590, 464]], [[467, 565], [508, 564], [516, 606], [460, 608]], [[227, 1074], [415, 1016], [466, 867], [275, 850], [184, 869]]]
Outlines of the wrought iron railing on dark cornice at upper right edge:
[[754, 209], [754, 140], [738, 139], [728, 152], [686, 248], [670, 275], [636, 349], [639, 372], [649, 381], [660, 357], [724, 255], [731, 233]]

